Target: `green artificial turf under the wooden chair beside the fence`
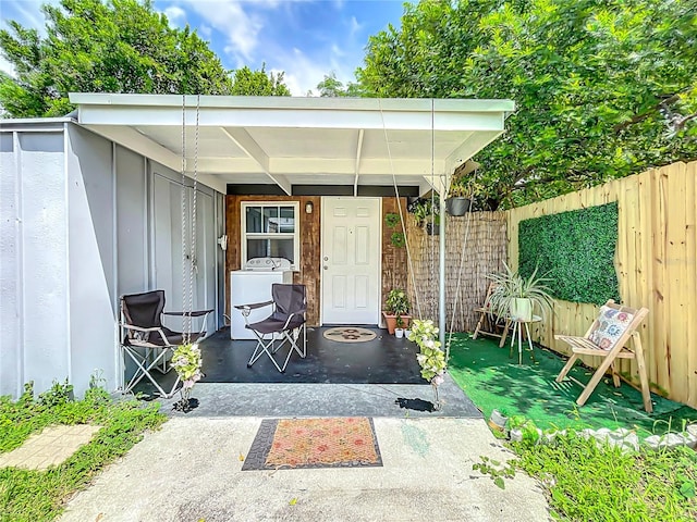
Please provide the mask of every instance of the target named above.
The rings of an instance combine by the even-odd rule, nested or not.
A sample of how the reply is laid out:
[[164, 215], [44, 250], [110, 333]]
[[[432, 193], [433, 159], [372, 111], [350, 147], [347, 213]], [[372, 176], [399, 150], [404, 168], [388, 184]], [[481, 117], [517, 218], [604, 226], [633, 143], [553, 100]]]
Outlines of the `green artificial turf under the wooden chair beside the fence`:
[[[499, 348], [498, 339], [473, 340], [468, 334], [453, 334], [449, 372], [488, 419], [494, 408], [509, 417], [524, 415], [545, 430], [584, 427], [637, 428], [640, 436], [681, 431], [683, 421], [697, 421], [697, 410], [651, 394], [653, 412], [646, 413], [639, 390], [612, 378], [603, 378], [583, 407], [575, 402], [582, 387], [554, 377], [566, 362], [557, 353], [535, 347], [535, 361], [526, 348], [523, 364], [517, 352], [509, 358], [509, 346]], [[587, 383], [591, 370], [577, 362], [570, 376]]]

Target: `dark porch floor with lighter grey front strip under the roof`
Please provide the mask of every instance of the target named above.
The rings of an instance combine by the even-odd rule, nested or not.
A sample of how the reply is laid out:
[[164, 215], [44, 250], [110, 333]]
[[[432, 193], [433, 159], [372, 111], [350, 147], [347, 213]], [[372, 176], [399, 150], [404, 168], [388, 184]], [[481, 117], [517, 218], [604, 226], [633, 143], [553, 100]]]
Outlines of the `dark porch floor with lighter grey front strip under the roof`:
[[[203, 371], [193, 397], [193, 417], [454, 417], [481, 418], [481, 412], [447, 375], [439, 387], [442, 409], [428, 409], [431, 386], [421, 378], [417, 346], [387, 331], [370, 328], [377, 337], [364, 343], [326, 339], [326, 328], [308, 328], [307, 357], [293, 355], [280, 373], [266, 355], [247, 368], [256, 341], [231, 340], [221, 330], [201, 344]], [[282, 348], [280, 353], [285, 353]], [[156, 374], [166, 389], [176, 374]], [[154, 387], [140, 383], [136, 391], [152, 396]], [[159, 399], [172, 412], [171, 399]]]

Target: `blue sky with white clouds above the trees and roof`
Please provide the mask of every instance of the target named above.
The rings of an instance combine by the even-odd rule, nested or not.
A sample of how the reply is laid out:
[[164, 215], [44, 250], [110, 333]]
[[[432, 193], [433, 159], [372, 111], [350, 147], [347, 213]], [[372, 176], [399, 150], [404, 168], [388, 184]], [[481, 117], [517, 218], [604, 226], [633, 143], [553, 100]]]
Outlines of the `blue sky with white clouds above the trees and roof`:
[[[2, 27], [16, 20], [42, 29], [46, 0], [0, 0]], [[49, 3], [58, 3], [49, 0]], [[402, 0], [156, 0], [170, 24], [188, 24], [228, 69], [285, 71], [293, 96], [305, 96], [325, 74], [354, 78], [370, 35], [399, 25]], [[11, 72], [0, 58], [0, 69]]]

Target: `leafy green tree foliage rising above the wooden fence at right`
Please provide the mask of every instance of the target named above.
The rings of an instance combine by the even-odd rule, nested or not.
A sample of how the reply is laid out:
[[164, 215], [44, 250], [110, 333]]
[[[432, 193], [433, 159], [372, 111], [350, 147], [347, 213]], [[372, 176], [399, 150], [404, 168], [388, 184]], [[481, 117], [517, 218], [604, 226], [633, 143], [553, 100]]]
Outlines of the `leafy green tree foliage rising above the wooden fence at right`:
[[489, 208], [697, 158], [696, 0], [421, 0], [356, 75], [367, 96], [514, 100], [476, 157]]

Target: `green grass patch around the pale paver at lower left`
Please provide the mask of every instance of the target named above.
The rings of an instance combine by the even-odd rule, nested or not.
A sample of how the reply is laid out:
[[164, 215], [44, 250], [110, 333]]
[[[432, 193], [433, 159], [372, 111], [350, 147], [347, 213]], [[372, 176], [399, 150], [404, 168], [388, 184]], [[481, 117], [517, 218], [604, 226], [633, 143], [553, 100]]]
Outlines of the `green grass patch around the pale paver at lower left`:
[[0, 452], [11, 451], [33, 433], [53, 424], [103, 426], [89, 444], [60, 465], [46, 471], [0, 469], [0, 521], [49, 521], [65, 500], [89, 484], [106, 464], [123, 456], [147, 430], [159, 427], [164, 415], [159, 405], [136, 400], [111, 401], [101, 387], [93, 387], [83, 400], [71, 400], [72, 387], [57, 383], [34, 399], [32, 385], [17, 401], [0, 398]]

